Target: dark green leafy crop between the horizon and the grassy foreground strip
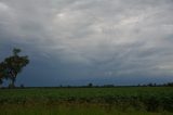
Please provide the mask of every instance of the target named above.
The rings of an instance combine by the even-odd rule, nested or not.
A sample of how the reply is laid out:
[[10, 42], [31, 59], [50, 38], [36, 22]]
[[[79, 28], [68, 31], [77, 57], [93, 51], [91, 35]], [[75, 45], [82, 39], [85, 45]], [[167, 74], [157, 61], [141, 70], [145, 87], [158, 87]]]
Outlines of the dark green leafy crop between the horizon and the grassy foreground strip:
[[59, 105], [89, 103], [120, 111], [173, 112], [172, 87], [1, 89], [0, 105]]

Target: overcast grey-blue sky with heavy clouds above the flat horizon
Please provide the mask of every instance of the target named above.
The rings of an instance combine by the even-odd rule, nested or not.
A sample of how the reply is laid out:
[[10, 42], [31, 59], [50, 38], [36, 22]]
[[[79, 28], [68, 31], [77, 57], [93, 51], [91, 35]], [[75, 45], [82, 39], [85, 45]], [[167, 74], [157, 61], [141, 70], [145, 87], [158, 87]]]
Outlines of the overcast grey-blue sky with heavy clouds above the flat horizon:
[[0, 62], [21, 48], [16, 85], [173, 81], [173, 0], [0, 0]]

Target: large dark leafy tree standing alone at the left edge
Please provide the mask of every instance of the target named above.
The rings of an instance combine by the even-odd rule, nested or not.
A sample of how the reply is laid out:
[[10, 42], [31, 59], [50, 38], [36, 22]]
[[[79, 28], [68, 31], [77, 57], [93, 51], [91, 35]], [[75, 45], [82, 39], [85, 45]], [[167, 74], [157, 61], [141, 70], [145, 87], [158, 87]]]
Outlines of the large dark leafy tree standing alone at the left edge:
[[29, 63], [28, 56], [19, 56], [18, 53], [21, 49], [13, 49], [13, 55], [4, 59], [3, 62], [0, 63], [0, 79], [10, 79], [11, 87], [14, 87], [14, 82], [18, 73], [22, 72], [23, 67]]

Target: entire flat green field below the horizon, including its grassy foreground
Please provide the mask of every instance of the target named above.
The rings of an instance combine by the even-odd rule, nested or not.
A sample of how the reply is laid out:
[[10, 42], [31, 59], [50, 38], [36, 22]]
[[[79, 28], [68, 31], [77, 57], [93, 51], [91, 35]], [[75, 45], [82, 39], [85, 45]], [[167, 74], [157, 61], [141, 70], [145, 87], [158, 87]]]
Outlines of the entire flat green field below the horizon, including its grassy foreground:
[[0, 89], [0, 115], [172, 115], [173, 87]]

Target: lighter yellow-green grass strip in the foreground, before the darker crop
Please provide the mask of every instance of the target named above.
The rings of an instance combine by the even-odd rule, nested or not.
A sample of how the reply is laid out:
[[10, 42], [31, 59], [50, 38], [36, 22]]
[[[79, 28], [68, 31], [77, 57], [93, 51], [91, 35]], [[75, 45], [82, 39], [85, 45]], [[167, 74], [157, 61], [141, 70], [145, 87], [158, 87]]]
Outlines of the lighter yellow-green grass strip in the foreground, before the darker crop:
[[61, 105], [18, 105], [6, 104], [0, 107], [1, 115], [172, 115], [171, 112], [147, 112], [99, 104], [61, 104]]

